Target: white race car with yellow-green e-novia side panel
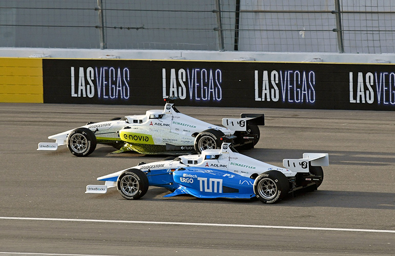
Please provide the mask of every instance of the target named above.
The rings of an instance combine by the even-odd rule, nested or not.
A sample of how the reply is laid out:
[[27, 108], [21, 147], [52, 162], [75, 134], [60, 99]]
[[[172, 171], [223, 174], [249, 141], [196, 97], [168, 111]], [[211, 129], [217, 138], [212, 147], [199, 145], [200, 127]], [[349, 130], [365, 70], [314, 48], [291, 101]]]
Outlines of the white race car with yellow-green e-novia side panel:
[[180, 113], [175, 98], [165, 98], [164, 110], [149, 110], [145, 115], [125, 116], [92, 123], [49, 136], [56, 142], [40, 142], [37, 150], [53, 151], [67, 145], [71, 154], [84, 157], [96, 144], [108, 144], [115, 153], [134, 151], [141, 154], [192, 154], [219, 148], [220, 138], [231, 135], [233, 145], [243, 149], [258, 143], [258, 125], [264, 125], [264, 114], [241, 114], [241, 118], [223, 118], [225, 127], [213, 125]]

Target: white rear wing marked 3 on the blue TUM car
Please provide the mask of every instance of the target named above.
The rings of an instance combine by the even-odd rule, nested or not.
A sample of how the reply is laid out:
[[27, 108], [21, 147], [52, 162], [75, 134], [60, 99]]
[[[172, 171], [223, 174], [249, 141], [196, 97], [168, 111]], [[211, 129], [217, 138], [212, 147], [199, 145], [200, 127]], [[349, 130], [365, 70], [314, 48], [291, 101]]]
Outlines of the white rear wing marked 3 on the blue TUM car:
[[328, 153], [303, 153], [300, 159], [283, 159], [283, 166], [294, 173], [308, 173], [311, 166], [328, 166]]

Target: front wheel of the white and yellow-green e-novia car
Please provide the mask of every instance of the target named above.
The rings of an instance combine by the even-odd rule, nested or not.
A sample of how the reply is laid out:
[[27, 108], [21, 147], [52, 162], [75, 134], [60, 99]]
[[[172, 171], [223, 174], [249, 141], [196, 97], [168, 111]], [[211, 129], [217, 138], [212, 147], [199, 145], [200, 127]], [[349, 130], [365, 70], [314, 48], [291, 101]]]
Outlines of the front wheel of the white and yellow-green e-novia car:
[[77, 128], [67, 136], [67, 148], [77, 157], [86, 157], [96, 148], [96, 136], [87, 128]]

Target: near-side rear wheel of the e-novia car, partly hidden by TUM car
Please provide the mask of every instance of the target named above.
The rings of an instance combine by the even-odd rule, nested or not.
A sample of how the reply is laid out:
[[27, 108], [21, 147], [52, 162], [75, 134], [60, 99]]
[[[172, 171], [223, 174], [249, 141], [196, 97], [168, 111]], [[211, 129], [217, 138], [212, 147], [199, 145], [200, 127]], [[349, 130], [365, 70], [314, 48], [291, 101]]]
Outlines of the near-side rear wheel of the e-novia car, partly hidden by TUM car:
[[194, 147], [198, 154], [201, 154], [204, 150], [214, 150], [221, 148], [222, 142], [221, 137], [224, 133], [218, 130], [209, 129], [201, 132], [196, 136]]

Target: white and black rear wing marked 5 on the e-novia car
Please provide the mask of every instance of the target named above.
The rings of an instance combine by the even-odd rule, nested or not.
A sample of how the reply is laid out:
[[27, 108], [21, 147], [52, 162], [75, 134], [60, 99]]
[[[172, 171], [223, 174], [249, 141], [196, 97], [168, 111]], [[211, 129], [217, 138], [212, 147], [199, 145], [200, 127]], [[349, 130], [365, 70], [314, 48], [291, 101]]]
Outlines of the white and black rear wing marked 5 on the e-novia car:
[[247, 125], [265, 125], [264, 114], [241, 114], [241, 118], [222, 118], [222, 125], [232, 131], [244, 132]]

